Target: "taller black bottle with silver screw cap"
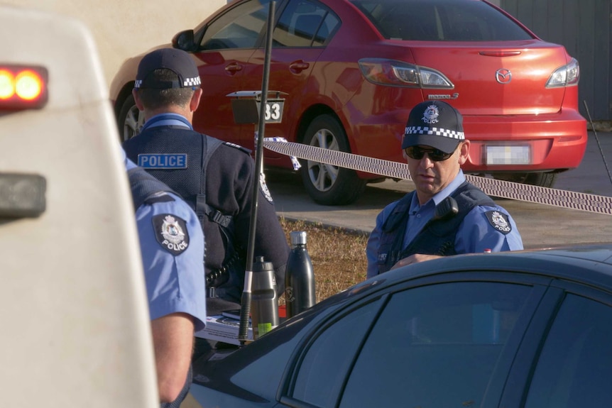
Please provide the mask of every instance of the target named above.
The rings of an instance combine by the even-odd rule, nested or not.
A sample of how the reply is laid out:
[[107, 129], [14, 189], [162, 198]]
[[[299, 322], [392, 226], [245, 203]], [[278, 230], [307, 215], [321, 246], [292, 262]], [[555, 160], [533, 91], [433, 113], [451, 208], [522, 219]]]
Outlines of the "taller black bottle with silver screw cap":
[[306, 249], [306, 231], [289, 233], [291, 252], [285, 269], [285, 304], [287, 318], [315, 304], [315, 272]]

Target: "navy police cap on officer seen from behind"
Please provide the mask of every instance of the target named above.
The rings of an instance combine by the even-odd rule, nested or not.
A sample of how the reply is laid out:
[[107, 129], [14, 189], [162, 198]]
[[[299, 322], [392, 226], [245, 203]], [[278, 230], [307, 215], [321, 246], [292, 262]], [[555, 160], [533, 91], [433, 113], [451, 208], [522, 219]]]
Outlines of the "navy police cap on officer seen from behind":
[[[173, 81], [159, 81], [151, 73], [160, 68], [171, 70], [177, 75]], [[200, 74], [189, 53], [176, 48], [160, 48], [143, 57], [138, 64], [134, 88], [168, 89], [200, 87]]]

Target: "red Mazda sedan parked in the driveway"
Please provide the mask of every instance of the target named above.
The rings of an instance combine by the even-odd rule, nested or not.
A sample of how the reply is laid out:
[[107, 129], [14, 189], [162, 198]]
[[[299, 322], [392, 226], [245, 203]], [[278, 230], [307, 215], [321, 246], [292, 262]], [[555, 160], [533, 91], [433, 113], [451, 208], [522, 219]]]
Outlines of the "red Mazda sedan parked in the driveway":
[[[236, 0], [172, 44], [192, 53], [204, 96], [194, 126], [253, 148], [253, 124], [236, 124], [231, 97], [261, 89], [267, 0]], [[124, 138], [142, 125], [131, 89], [141, 56], [111, 84]], [[278, 0], [268, 89], [284, 92], [284, 137], [403, 161], [410, 108], [444, 99], [464, 115], [469, 173], [552, 187], [586, 148], [578, 110], [579, 65], [483, 0]], [[290, 167], [264, 150], [265, 163]], [[302, 179], [321, 204], [348, 204], [381, 176], [304, 161]]]

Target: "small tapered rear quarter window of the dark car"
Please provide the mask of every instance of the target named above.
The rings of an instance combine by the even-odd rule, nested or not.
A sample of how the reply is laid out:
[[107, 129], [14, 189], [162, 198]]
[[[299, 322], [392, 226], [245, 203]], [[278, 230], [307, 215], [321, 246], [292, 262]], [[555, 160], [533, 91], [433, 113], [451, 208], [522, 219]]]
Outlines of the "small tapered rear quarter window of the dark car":
[[312, 343], [300, 367], [293, 398], [318, 407], [334, 407], [349, 370], [381, 300], [352, 311], [325, 330]]

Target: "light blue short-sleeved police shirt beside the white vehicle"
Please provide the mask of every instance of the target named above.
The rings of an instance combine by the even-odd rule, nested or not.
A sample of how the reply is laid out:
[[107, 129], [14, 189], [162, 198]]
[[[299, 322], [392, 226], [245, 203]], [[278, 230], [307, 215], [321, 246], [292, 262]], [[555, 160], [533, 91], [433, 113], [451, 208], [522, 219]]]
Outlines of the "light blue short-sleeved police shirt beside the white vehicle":
[[[136, 165], [126, 159], [126, 170]], [[182, 198], [143, 204], [136, 209], [151, 320], [182, 312], [204, 329], [204, 234], [195, 212]]]

